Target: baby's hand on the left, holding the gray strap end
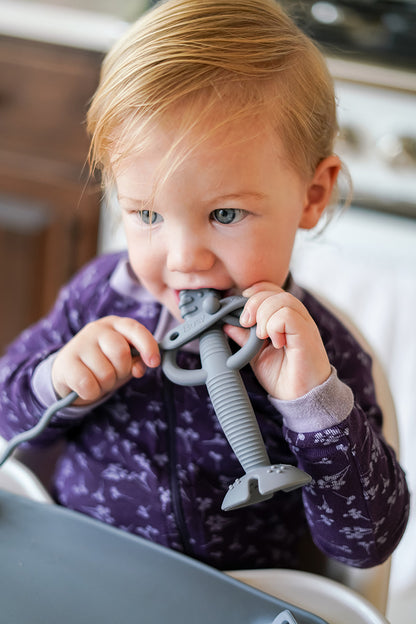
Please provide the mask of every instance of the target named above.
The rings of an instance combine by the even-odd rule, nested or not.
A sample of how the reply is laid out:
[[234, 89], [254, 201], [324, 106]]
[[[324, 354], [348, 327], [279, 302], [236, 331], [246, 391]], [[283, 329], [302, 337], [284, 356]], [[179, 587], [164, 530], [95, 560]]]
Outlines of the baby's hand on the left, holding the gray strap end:
[[[132, 347], [140, 355], [132, 355]], [[52, 383], [60, 397], [75, 390], [75, 404], [87, 405], [159, 364], [159, 346], [146, 327], [131, 318], [106, 316], [88, 323], [58, 351]]]

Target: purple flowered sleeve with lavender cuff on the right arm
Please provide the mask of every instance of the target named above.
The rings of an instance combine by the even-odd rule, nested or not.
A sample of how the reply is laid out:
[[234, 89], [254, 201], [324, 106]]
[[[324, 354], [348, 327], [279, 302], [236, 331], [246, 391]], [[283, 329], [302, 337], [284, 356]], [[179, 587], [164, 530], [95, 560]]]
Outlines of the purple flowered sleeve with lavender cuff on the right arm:
[[297, 405], [279, 402], [277, 407], [298, 465], [312, 477], [303, 501], [313, 540], [334, 559], [371, 567], [399, 543], [409, 492], [395, 451], [382, 434], [370, 356], [341, 325], [332, 328], [330, 338], [327, 329], [324, 323], [322, 335], [337, 371], [331, 390], [323, 384]]

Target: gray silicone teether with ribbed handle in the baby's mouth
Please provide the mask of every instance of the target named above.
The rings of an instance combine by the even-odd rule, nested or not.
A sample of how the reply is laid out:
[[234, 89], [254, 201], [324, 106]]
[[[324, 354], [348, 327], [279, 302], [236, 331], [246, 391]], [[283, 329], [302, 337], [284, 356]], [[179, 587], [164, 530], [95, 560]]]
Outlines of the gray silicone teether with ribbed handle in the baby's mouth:
[[[245, 301], [244, 297], [221, 300], [221, 293], [212, 289], [182, 291], [179, 307], [185, 322], [169, 332], [161, 343], [165, 349], [163, 371], [171, 381], [181, 385], [206, 384], [217, 418], [245, 471], [230, 485], [222, 503], [224, 510], [267, 500], [278, 490], [287, 492], [311, 480], [295, 466], [270, 464], [238, 370], [254, 357], [263, 341], [257, 338], [255, 327], [251, 328], [247, 343], [232, 354], [221, 328], [223, 323], [238, 324], [232, 313], [241, 309]], [[176, 363], [177, 350], [198, 335], [201, 368], [184, 370]]]

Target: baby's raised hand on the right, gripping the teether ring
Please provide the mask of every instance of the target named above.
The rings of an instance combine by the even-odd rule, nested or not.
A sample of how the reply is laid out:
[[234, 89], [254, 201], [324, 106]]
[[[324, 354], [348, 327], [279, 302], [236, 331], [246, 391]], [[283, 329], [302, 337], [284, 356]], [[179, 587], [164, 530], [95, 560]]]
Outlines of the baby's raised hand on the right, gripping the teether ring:
[[[269, 339], [251, 361], [253, 371], [271, 396], [292, 400], [328, 379], [331, 367], [319, 330], [305, 306], [275, 284], [259, 282], [243, 292], [248, 298], [240, 317], [243, 327], [257, 323], [257, 336]], [[247, 330], [227, 325], [237, 344]]]

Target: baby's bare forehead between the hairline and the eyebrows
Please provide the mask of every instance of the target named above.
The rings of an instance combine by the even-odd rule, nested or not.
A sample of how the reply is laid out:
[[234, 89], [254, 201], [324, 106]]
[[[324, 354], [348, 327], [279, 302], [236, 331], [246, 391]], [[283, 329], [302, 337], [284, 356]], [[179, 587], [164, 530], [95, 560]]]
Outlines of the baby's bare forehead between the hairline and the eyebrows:
[[[183, 137], [176, 128], [154, 124], [148, 128], [145, 147], [120, 144], [113, 173], [119, 194], [152, 201], [159, 191], [177, 185], [199, 192], [206, 199], [222, 195], [251, 196], [262, 192], [265, 171], [286, 175], [288, 158], [282, 144], [263, 123], [192, 126]], [[276, 168], [276, 169], [275, 169]], [[293, 173], [293, 172], [292, 172]], [[173, 186], [171, 186], [173, 185]]]

